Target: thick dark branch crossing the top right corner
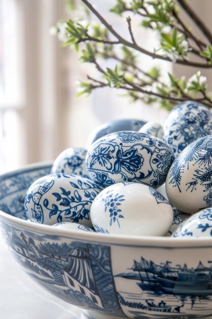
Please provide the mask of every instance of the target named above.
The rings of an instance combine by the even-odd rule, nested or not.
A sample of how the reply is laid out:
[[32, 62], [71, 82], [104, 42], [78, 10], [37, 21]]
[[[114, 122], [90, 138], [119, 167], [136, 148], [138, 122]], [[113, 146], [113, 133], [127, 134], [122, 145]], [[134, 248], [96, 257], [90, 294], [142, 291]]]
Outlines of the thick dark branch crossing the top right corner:
[[195, 22], [199, 30], [202, 34], [209, 40], [210, 44], [212, 45], [212, 34], [210, 33], [209, 29], [207, 29], [206, 25], [202, 22], [202, 20], [196, 15], [196, 13], [192, 10], [190, 6], [184, 0], [177, 0], [179, 5], [186, 11], [186, 13], [191, 17], [191, 19]]

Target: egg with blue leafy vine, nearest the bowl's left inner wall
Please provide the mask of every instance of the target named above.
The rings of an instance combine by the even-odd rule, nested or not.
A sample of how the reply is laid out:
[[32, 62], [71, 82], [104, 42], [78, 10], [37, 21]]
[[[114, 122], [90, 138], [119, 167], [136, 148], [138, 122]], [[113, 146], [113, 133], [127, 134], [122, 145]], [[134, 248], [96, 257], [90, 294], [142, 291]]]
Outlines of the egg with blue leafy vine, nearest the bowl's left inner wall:
[[90, 206], [99, 192], [97, 185], [87, 178], [46, 175], [29, 187], [24, 202], [26, 215], [41, 224], [73, 222], [93, 227]]

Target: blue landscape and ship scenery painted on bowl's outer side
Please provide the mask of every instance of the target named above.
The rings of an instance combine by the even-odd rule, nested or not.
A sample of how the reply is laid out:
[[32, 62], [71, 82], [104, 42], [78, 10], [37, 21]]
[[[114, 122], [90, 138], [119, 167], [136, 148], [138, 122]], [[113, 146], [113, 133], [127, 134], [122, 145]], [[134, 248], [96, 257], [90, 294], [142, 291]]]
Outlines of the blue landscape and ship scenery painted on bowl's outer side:
[[[3, 233], [24, 271], [51, 293], [84, 309], [116, 317], [173, 318], [203, 315], [212, 308], [212, 260], [157, 263], [129, 254], [122, 273], [113, 273], [118, 246], [67, 242], [3, 223]], [[62, 239], [62, 240], [61, 240]], [[149, 253], [147, 253], [148, 255]], [[131, 256], [132, 255], [132, 256]], [[113, 261], [111, 261], [113, 260]], [[201, 296], [201, 297], [199, 297]]]

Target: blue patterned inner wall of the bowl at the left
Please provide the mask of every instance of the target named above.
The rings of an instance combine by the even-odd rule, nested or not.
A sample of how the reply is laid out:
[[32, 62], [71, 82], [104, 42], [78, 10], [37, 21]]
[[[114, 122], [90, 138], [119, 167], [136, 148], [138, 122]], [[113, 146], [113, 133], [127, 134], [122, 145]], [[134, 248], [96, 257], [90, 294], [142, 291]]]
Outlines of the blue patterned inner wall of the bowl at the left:
[[50, 173], [51, 164], [28, 166], [0, 176], [0, 210], [20, 219], [27, 219], [24, 199], [29, 186]]

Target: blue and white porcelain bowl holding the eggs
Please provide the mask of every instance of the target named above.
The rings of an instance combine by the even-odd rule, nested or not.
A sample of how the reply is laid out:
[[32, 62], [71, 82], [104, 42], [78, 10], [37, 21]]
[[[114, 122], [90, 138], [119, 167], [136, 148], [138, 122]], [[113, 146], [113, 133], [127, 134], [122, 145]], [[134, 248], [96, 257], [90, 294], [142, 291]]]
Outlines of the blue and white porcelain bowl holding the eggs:
[[34, 281], [93, 319], [212, 315], [211, 237], [108, 235], [28, 222], [25, 193], [50, 168], [0, 176], [4, 240]]

